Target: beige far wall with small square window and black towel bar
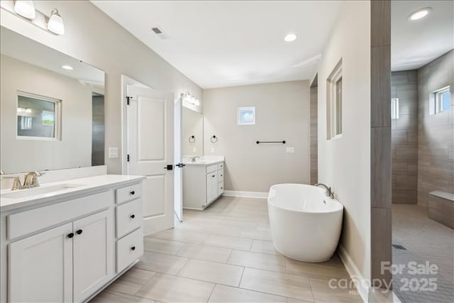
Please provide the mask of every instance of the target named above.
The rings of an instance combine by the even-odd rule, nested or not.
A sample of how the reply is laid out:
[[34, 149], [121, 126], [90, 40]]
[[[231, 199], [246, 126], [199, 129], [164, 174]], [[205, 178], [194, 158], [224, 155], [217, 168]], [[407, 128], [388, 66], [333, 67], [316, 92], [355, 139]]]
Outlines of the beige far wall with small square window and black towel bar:
[[[255, 106], [255, 125], [237, 125], [241, 106]], [[204, 155], [226, 156], [226, 190], [267, 192], [276, 183], [309, 183], [309, 81], [206, 89]]]

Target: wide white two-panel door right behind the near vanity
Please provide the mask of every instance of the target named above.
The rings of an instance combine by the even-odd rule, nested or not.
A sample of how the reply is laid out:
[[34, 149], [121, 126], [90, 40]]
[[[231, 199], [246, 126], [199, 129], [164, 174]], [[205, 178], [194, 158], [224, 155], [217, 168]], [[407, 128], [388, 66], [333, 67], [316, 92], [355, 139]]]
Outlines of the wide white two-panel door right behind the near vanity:
[[143, 233], [173, 227], [174, 95], [128, 85], [127, 172], [144, 175]]

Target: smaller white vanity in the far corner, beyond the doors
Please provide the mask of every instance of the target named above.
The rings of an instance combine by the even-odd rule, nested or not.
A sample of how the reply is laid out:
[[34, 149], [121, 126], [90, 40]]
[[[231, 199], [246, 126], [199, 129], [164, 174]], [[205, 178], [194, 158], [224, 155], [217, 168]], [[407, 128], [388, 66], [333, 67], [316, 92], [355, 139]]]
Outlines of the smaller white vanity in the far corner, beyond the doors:
[[224, 192], [224, 158], [183, 159], [183, 208], [206, 209]]

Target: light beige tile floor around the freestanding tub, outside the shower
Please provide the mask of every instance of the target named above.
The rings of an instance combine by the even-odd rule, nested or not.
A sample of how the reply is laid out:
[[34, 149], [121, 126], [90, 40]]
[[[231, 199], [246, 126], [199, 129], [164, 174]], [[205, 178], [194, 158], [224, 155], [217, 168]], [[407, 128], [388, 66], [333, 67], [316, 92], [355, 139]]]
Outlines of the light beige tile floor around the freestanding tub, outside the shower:
[[337, 255], [303, 263], [270, 240], [265, 199], [221, 197], [145, 237], [139, 263], [92, 302], [362, 302], [354, 289], [329, 287], [348, 278]]

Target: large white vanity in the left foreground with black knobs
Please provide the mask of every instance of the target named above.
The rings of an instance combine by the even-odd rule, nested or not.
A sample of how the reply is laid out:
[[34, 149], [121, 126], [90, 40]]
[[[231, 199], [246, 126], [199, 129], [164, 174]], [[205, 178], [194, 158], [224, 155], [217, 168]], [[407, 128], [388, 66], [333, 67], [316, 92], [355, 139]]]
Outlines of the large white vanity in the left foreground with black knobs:
[[143, 254], [142, 180], [97, 175], [1, 191], [1, 302], [82, 302]]

